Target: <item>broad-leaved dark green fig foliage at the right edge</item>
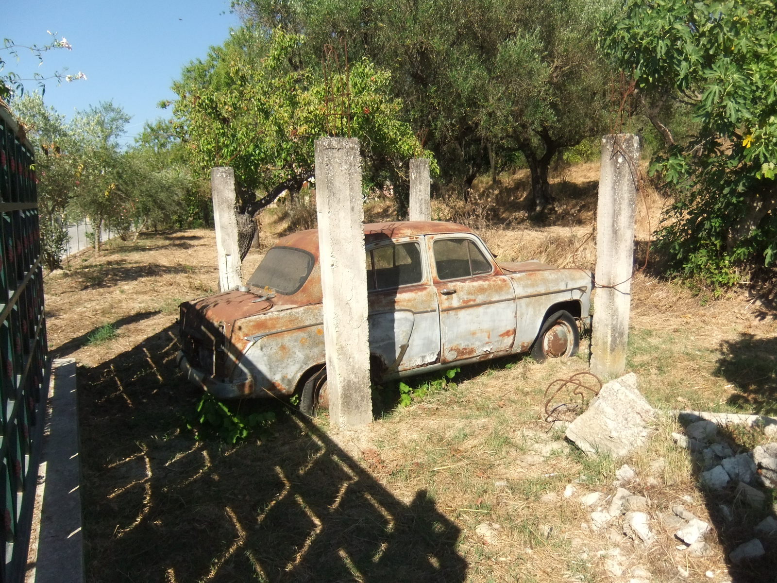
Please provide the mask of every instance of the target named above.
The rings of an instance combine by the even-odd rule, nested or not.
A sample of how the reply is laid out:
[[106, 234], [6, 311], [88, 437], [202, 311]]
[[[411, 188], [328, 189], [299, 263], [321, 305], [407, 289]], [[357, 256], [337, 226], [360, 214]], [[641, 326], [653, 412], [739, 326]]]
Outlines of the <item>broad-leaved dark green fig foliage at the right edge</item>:
[[777, 259], [777, 10], [770, 0], [625, 2], [604, 47], [695, 131], [653, 160], [676, 203], [659, 246], [678, 273], [732, 285]]

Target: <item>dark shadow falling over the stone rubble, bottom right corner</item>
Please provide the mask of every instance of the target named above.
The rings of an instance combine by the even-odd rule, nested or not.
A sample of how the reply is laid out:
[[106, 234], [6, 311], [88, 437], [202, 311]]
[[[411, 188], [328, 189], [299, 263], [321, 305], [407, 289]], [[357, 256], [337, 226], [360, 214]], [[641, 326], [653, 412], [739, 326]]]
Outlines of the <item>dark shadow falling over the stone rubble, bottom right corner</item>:
[[[720, 546], [726, 558], [731, 583], [761, 583], [777, 581], [777, 540], [775, 532], [758, 531], [756, 526], [765, 518], [775, 518], [772, 507], [772, 488], [766, 487], [763, 478], [751, 470], [740, 470], [740, 460], [753, 459], [752, 430], [734, 424], [717, 426], [695, 414], [683, 414], [681, 422], [686, 426], [702, 424], [709, 428], [708, 439], [695, 442], [689, 449], [695, 479], [702, 484], [700, 490], [717, 532]], [[718, 454], [724, 452], [723, 456]], [[747, 464], [745, 464], [747, 465]], [[723, 467], [726, 470], [723, 470]], [[755, 466], [751, 466], [754, 468]], [[722, 488], [706, 487], [702, 473], [722, 470], [722, 475], [733, 473]], [[757, 540], [757, 542], [755, 542]], [[732, 560], [731, 553], [744, 544], [758, 546], [765, 551], [761, 557]]]

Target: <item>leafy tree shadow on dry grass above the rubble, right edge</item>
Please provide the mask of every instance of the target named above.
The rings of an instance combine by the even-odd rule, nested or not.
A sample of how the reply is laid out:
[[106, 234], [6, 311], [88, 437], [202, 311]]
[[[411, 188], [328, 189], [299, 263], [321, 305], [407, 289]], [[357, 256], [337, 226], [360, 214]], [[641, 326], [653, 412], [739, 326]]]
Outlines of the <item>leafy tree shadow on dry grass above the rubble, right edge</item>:
[[728, 403], [763, 415], [777, 414], [777, 338], [741, 333], [720, 344], [715, 374], [733, 386]]

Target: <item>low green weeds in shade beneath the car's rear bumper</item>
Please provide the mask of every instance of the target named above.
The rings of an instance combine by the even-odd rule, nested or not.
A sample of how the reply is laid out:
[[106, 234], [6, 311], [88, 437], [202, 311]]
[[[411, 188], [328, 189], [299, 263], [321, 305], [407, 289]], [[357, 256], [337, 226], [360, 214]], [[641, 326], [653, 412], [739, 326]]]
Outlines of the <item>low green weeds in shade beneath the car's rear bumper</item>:
[[241, 414], [239, 406], [240, 403], [225, 403], [211, 393], [204, 393], [186, 427], [194, 431], [197, 439], [218, 438], [235, 444], [275, 421], [273, 411]]

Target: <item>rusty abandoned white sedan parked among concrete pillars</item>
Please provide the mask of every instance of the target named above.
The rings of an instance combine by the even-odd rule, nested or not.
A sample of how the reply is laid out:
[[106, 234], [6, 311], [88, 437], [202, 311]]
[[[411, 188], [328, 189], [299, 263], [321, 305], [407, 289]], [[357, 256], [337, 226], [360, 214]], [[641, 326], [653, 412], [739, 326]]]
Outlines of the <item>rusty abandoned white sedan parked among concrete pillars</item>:
[[[507, 354], [572, 356], [591, 273], [497, 263], [451, 222], [364, 225], [371, 375], [382, 382]], [[326, 404], [318, 231], [280, 239], [246, 286], [180, 305], [179, 367], [215, 396]]]

